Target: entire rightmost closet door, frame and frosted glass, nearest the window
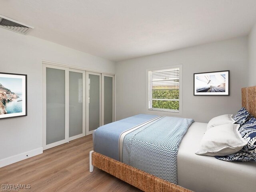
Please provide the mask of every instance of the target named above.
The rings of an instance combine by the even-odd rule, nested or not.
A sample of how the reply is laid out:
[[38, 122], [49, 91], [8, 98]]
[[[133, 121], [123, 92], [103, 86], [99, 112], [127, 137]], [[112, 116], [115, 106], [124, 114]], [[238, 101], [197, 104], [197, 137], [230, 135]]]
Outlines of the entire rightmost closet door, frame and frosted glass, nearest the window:
[[114, 122], [115, 76], [102, 74], [102, 125]]

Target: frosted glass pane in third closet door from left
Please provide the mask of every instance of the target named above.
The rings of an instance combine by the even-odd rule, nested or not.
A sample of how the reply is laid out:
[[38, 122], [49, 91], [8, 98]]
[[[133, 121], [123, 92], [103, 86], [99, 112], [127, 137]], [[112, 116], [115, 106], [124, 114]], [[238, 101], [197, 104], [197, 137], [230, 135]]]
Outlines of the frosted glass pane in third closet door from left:
[[100, 75], [88, 74], [89, 86], [89, 131], [100, 126]]

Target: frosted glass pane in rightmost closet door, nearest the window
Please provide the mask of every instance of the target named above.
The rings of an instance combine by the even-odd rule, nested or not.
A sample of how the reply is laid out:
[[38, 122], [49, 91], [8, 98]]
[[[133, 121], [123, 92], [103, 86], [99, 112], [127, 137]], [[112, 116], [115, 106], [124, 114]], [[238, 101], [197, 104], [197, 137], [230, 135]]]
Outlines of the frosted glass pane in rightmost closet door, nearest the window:
[[113, 122], [113, 78], [104, 76], [104, 124]]

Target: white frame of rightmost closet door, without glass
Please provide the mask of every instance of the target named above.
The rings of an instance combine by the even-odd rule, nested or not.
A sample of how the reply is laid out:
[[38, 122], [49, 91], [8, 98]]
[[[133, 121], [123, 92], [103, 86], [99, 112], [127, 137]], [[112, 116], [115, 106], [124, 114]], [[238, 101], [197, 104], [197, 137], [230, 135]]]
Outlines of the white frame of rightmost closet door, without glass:
[[101, 76], [101, 105], [102, 105], [102, 109], [101, 110], [101, 126], [104, 125], [104, 77], [112, 77], [112, 86], [113, 86], [113, 90], [112, 90], [112, 122], [114, 122], [116, 120], [116, 108], [115, 108], [115, 90], [116, 90], [116, 86], [115, 86], [115, 76], [114, 75], [110, 75], [110, 74], [104, 74], [102, 73]]

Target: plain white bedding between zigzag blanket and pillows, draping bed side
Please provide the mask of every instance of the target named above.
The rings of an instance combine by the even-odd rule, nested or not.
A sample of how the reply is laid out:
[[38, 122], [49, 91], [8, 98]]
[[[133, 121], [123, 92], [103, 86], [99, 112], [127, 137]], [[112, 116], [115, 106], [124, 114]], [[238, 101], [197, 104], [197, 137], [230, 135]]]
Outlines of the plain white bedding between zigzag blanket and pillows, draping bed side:
[[195, 192], [255, 192], [256, 162], [225, 162], [195, 154], [206, 123], [194, 122], [178, 150], [178, 185]]

